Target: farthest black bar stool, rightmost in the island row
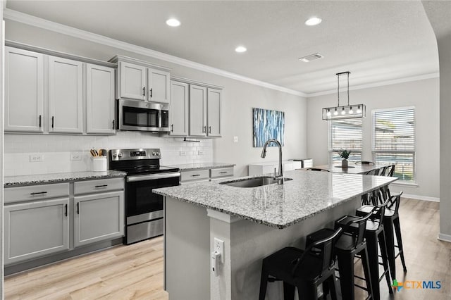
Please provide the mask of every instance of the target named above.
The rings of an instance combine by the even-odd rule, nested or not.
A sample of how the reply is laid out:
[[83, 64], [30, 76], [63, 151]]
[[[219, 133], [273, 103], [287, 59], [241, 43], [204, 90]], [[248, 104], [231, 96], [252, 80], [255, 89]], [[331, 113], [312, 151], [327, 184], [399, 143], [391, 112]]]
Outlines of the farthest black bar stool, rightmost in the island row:
[[[388, 194], [390, 194], [390, 192], [388, 192]], [[385, 242], [387, 244], [388, 264], [390, 265], [390, 275], [393, 279], [396, 279], [395, 259], [398, 256], [401, 257], [404, 273], [407, 272], [406, 263], [404, 260], [404, 249], [402, 247], [400, 215], [398, 213], [400, 208], [401, 195], [402, 192], [388, 198], [388, 204], [383, 215], [383, 226], [385, 228]], [[356, 215], [365, 215], [366, 213], [368, 213], [368, 211], [372, 211], [373, 207], [374, 206], [369, 205], [362, 206], [361, 208], [357, 209]], [[396, 233], [397, 245], [395, 245], [395, 236], [393, 230]], [[395, 248], [398, 249], [397, 254], [395, 254]]]

